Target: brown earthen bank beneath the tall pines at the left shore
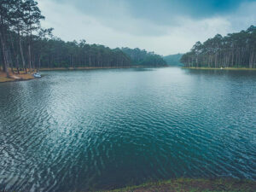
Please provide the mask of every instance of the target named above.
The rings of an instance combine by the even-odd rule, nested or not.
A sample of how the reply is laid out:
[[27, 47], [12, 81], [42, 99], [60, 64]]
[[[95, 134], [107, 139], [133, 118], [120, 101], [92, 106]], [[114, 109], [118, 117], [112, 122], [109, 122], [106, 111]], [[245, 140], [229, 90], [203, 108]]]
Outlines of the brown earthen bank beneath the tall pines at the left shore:
[[20, 71], [20, 74], [9, 73], [9, 78], [7, 78], [7, 74], [0, 71], [0, 83], [9, 82], [9, 81], [19, 81], [19, 80], [29, 80], [34, 79], [32, 73], [24, 73]]

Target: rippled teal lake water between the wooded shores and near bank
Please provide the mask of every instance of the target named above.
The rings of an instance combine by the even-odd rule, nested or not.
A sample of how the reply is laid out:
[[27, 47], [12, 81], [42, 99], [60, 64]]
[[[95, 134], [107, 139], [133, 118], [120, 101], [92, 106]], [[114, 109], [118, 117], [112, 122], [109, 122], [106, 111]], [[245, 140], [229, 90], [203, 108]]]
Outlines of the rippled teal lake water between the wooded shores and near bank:
[[0, 84], [0, 190], [256, 179], [256, 72], [44, 72]]

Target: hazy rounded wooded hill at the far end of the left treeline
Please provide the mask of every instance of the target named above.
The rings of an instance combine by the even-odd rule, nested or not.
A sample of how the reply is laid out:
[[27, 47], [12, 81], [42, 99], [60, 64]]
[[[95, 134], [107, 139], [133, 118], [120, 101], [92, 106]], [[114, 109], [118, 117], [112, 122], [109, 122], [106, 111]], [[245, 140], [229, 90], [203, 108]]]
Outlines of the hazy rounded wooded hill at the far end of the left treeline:
[[149, 66], [149, 67], [163, 67], [167, 66], [166, 61], [160, 55], [154, 52], [148, 52], [142, 49], [122, 48], [122, 51], [131, 58], [132, 65], [135, 66]]

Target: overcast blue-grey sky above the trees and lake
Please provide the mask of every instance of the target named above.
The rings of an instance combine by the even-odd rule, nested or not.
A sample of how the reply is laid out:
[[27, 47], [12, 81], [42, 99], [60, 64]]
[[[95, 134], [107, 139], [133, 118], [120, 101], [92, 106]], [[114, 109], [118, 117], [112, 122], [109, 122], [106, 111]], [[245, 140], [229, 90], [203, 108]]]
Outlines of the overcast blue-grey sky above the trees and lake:
[[256, 0], [38, 0], [45, 28], [65, 41], [160, 55], [256, 25]]

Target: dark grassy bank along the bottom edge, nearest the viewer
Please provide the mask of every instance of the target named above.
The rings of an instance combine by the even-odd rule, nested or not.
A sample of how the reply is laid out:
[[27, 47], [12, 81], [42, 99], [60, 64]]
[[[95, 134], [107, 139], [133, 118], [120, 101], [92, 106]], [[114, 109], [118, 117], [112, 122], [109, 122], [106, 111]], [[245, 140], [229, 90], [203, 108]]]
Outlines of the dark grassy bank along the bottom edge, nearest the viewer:
[[139, 186], [126, 187], [124, 189], [108, 190], [111, 192], [144, 192], [144, 191], [241, 191], [255, 192], [256, 182], [236, 179], [192, 179], [179, 178], [158, 183], [145, 183]]

